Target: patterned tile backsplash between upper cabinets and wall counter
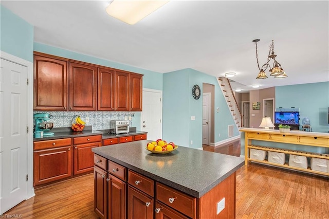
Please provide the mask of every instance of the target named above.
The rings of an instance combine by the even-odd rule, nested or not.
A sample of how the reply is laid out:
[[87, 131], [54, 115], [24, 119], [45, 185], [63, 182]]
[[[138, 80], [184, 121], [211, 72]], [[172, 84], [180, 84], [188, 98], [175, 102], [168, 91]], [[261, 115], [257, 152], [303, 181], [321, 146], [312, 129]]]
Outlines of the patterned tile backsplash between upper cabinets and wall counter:
[[[93, 130], [109, 129], [109, 120], [129, 120], [132, 126], [132, 112], [110, 112], [110, 111], [33, 111], [35, 113], [49, 113], [48, 122], [53, 122], [53, 127], [70, 127], [72, 119], [79, 115], [86, 125], [92, 125]], [[86, 121], [86, 117], [89, 121]]]

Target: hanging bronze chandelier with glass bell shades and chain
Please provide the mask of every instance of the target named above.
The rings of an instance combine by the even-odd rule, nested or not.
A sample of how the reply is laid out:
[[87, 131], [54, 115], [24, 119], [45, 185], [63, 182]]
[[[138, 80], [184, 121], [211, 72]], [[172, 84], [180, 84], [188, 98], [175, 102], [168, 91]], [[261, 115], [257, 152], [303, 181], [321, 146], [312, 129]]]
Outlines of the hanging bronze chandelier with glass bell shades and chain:
[[[268, 57], [267, 57], [267, 62], [260, 68], [259, 62], [258, 62], [258, 51], [257, 51], [257, 42], [259, 42], [259, 39], [253, 40], [256, 44], [256, 59], [257, 59], [257, 65], [258, 69], [260, 70], [258, 76], [256, 79], [265, 79], [267, 78], [266, 76], [266, 69], [269, 68], [270, 76], [274, 76], [275, 78], [286, 78], [288, 77], [283, 68], [281, 67], [281, 64], [276, 60], [277, 55], [274, 53], [274, 41], [272, 40], [271, 45], [269, 46], [269, 52], [268, 52]], [[269, 62], [273, 60], [272, 67], [269, 64]]]

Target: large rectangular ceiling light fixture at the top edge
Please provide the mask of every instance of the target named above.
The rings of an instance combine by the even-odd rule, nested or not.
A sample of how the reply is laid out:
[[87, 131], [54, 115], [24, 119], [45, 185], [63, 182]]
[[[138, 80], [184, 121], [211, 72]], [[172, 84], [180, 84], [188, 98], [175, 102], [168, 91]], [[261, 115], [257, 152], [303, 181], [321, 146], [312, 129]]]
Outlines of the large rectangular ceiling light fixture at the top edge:
[[156, 9], [169, 1], [120, 1], [114, 0], [106, 8], [106, 12], [127, 24], [136, 24]]

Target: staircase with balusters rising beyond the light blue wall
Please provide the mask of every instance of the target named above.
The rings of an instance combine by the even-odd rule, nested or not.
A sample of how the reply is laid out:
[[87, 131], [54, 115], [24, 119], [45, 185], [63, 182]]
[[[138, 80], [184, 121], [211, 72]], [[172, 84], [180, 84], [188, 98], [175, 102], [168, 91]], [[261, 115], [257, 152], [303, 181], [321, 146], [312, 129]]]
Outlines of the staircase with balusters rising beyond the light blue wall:
[[220, 85], [223, 95], [226, 99], [227, 105], [231, 110], [231, 114], [235, 121], [235, 125], [237, 129], [240, 129], [240, 127], [242, 127], [242, 114], [239, 105], [237, 105], [230, 81], [225, 77], [219, 77], [218, 84]]

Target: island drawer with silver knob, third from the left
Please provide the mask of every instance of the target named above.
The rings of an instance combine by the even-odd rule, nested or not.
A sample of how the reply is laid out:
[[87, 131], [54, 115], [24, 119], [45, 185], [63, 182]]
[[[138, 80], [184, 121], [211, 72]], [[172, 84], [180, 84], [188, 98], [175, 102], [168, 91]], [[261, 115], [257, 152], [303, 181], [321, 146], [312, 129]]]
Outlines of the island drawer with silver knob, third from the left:
[[152, 179], [128, 170], [128, 183], [148, 195], [154, 196], [154, 181]]

